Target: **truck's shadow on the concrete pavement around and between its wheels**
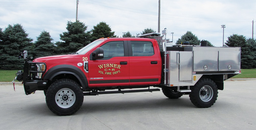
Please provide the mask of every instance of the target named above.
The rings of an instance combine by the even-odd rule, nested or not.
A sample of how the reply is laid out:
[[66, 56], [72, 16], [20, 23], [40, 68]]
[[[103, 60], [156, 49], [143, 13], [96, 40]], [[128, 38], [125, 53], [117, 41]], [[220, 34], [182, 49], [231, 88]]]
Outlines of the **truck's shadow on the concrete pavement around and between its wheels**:
[[[218, 102], [212, 107], [230, 106], [228, 102]], [[223, 108], [221, 107], [221, 108]], [[86, 115], [88, 113], [105, 113], [105, 112], [135, 112], [135, 111], [168, 111], [177, 112], [179, 111], [195, 111], [195, 109], [201, 109], [194, 106], [188, 97], [181, 97], [179, 99], [169, 99], [169, 98], [157, 98], [157, 99], [136, 99], [136, 100], [107, 100], [107, 101], [84, 101], [82, 107], [74, 115]], [[202, 108], [203, 110], [204, 108]], [[207, 109], [207, 108], [206, 108]], [[38, 103], [37, 105], [28, 104], [23, 106], [23, 109], [16, 110], [18, 112], [30, 113], [42, 115], [42, 116], [53, 116], [56, 115], [52, 113], [47, 107], [46, 103]], [[33, 111], [33, 112], [31, 112]]]

